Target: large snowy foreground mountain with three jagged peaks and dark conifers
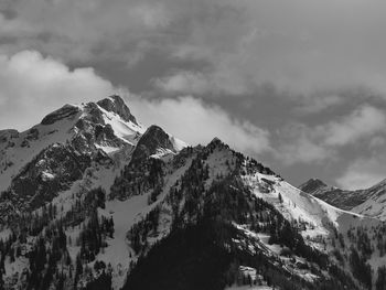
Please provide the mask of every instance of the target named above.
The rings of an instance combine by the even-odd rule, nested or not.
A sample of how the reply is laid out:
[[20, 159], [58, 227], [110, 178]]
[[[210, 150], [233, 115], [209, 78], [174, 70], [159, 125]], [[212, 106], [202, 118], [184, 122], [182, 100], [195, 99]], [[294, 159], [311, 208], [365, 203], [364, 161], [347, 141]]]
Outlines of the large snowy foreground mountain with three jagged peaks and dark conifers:
[[118, 96], [1, 131], [0, 184], [0, 289], [371, 289], [386, 278], [379, 218], [218, 138], [191, 147], [146, 128]]

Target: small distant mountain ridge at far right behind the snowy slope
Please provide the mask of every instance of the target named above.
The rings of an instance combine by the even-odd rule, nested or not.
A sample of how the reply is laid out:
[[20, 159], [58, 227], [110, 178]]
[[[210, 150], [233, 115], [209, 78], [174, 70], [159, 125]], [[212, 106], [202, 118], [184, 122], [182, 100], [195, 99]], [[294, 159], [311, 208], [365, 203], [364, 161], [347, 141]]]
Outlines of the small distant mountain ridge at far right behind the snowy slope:
[[386, 180], [369, 189], [347, 191], [311, 179], [299, 189], [339, 208], [386, 221]]

